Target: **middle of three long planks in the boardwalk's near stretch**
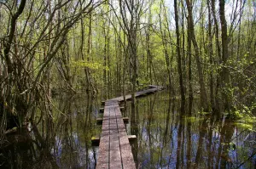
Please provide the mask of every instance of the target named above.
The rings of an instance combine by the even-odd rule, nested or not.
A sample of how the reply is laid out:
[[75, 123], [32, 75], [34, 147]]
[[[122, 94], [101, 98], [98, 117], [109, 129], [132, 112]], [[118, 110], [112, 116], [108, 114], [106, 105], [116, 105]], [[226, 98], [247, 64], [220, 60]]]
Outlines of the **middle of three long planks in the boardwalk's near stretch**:
[[119, 149], [119, 133], [115, 115], [115, 108], [118, 107], [118, 103], [116, 105], [112, 105], [110, 108], [110, 149], [109, 149], [109, 168], [122, 168], [122, 160]]

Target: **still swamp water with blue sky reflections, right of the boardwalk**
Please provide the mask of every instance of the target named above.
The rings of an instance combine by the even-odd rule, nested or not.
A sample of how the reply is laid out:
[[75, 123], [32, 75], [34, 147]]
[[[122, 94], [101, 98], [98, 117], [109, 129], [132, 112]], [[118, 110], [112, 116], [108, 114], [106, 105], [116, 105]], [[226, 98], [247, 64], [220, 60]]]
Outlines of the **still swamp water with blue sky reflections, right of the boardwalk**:
[[137, 99], [134, 112], [128, 107], [137, 168], [256, 168], [255, 123], [248, 129], [200, 112], [196, 99], [191, 114], [179, 106], [162, 92]]

